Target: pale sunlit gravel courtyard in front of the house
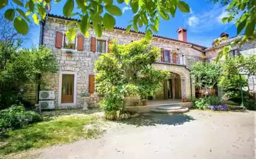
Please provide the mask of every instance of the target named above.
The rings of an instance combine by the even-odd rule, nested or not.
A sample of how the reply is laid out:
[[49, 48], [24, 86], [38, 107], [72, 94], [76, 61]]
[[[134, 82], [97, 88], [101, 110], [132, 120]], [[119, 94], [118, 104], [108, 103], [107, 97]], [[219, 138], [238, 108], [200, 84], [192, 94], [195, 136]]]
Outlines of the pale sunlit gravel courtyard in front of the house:
[[254, 158], [256, 112], [148, 113], [111, 122], [99, 139], [34, 151], [40, 159]]

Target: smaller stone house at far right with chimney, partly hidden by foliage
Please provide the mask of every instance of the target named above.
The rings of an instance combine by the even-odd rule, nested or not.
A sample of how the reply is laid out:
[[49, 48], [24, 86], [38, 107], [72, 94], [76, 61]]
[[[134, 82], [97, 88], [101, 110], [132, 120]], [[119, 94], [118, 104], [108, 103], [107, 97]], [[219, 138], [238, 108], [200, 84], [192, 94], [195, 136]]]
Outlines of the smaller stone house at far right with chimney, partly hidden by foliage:
[[[239, 41], [242, 40], [244, 35], [239, 35], [237, 37], [233, 37], [233, 38], [228, 38], [228, 34], [226, 33], [222, 33], [220, 34], [220, 37], [226, 37], [228, 38], [228, 40], [222, 41], [220, 43], [220, 46], [217, 48], [207, 48], [205, 49], [205, 56], [207, 58], [208, 62], [212, 62], [214, 61], [214, 59], [217, 57], [218, 53], [223, 49], [223, 47], [228, 46], [229, 44], [231, 44], [233, 41]], [[230, 51], [230, 55], [231, 56], [248, 56], [248, 55], [256, 55], [256, 39], [251, 39], [249, 41], [247, 41], [246, 43], [244, 43], [242, 45], [242, 47], [237, 46], [232, 46], [231, 47], [231, 51]], [[222, 58], [223, 59], [223, 58]], [[222, 60], [220, 59], [220, 60]], [[255, 61], [256, 62], [256, 61]], [[246, 75], [243, 75], [246, 76]], [[249, 76], [248, 78], [248, 85], [249, 85], [249, 91], [251, 92], [256, 92], [256, 76]], [[245, 88], [248, 89], [248, 88]], [[218, 89], [219, 91], [219, 96], [222, 96], [221, 93], [221, 88]]]

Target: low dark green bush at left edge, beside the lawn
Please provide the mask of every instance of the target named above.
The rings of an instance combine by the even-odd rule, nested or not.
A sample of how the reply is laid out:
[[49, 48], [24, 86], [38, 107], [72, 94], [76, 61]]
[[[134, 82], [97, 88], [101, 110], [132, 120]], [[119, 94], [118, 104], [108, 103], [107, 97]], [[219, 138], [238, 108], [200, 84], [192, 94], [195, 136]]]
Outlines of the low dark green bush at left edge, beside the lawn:
[[42, 121], [43, 118], [33, 111], [26, 111], [23, 106], [13, 105], [0, 111], [0, 132], [6, 129], [17, 129], [23, 125]]

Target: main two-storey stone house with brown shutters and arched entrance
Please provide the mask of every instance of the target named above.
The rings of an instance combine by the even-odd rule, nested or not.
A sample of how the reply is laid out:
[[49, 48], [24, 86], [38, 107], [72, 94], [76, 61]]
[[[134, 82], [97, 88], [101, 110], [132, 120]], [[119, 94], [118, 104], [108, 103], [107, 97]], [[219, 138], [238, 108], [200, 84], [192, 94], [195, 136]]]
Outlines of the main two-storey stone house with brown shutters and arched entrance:
[[[58, 59], [59, 72], [43, 74], [47, 85], [40, 89], [55, 92], [54, 104], [57, 108], [82, 106], [84, 90], [90, 92], [90, 104], [98, 103], [95, 61], [102, 53], [109, 52], [110, 40], [128, 44], [145, 36], [143, 32], [126, 33], [125, 28], [116, 26], [111, 31], [103, 30], [101, 38], [96, 38], [93, 28], [89, 28], [87, 38], [77, 29], [75, 40], [67, 43], [65, 32], [69, 28], [67, 23], [72, 20], [76, 19], [48, 14], [45, 22], [41, 23], [40, 44], [52, 49]], [[207, 47], [189, 43], [186, 29], [179, 28], [177, 34], [178, 40], [160, 35], [152, 38], [152, 45], [161, 48], [161, 56], [154, 64], [155, 69], [172, 73], [172, 77], [163, 82], [163, 90], [152, 97], [153, 99], [195, 97], [195, 86], [190, 79], [189, 68], [194, 62], [202, 61], [201, 57], [205, 55], [204, 50]], [[139, 100], [139, 97], [131, 97], [131, 101], [133, 100]]]

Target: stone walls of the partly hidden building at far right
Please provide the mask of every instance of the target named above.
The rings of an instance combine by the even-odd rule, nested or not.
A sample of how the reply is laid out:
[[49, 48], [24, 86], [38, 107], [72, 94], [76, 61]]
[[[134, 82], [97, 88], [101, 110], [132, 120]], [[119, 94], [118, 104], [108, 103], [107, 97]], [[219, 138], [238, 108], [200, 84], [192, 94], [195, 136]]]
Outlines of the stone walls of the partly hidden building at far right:
[[[205, 49], [206, 58], [208, 59], [209, 62], [214, 61], [214, 59], [217, 57], [218, 53], [223, 49], [224, 46], [230, 44], [234, 40], [239, 40], [242, 37], [243, 35], [240, 35], [239, 37], [234, 37], [226, 41], [223, 41], [222, 43], [220, 43], [220, 47], [218, 47], [217, 49], [212, 49], [212, 48]], [[255, 39], [250, 40], [245, 44], [243, 44], [242, 47], [232, 46], [231, 50], [239, 50], [242, 56], [256, 55], [256, 40]], [[221, 60], [223, 60], [223, 58]], [[256, 76], [250, 76], [248, 80], [248, 84], [249, 84], [249, 91], [256, 92]], [[248, 88], [245, 88], [245, 89], [248, 89]]]

